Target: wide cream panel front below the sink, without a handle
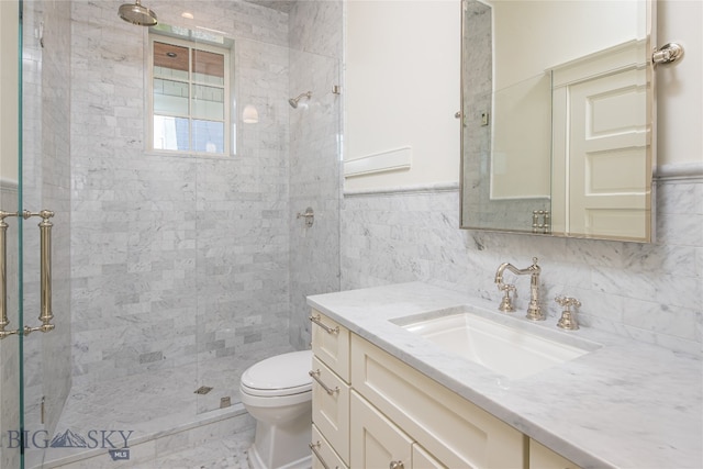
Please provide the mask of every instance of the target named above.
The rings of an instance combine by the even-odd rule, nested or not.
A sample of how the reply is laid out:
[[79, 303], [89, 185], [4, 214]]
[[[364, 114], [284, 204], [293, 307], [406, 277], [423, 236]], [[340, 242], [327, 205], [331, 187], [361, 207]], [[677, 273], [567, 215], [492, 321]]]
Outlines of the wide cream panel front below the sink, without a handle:
[[523, 468], [526, 437], [356, 334], [352, 383], [450, 468]]

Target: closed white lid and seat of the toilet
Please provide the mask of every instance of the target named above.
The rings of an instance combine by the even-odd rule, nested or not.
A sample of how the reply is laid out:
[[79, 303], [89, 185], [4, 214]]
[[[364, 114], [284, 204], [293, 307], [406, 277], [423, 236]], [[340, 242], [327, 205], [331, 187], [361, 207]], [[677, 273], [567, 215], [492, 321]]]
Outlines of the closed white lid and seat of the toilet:
[[[250, 366], [242, 375], [242, 386], [256, 394], [295, 394], [312, 389], [312, 351], [277, 355]], [[260, 391], [260, 392], [257, 392]]]

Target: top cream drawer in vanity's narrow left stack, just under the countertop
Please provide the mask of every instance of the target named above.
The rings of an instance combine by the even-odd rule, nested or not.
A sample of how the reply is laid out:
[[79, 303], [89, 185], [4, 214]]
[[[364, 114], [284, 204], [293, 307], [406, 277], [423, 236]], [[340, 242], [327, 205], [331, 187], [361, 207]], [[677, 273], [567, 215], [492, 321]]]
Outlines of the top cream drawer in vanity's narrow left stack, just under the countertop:
[[349, 382], [349, 330], [312, 310], [312, 353]]

